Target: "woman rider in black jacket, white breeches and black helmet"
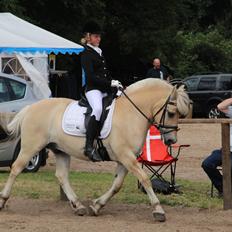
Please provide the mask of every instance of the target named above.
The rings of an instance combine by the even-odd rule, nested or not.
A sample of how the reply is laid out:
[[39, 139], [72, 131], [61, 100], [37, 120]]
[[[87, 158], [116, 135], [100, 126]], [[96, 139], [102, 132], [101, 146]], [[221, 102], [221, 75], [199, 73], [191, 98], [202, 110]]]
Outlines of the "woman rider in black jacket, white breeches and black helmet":
[[84, 29], [81, 42], [85, 49], [81, 54], [81, 66], [86, 79], [85, 95], [92, 108], [92, 114], [86, 130], [85, 155], [92, 161], [102, 161], [93, 143], [99, 134], [100, 117], [102, 114], [102, 99], [116, 87], [122, 88], [118, 80], [111, 80], [106, 68], [102, 50], [101, 28], [94, 22], [88, 22]]

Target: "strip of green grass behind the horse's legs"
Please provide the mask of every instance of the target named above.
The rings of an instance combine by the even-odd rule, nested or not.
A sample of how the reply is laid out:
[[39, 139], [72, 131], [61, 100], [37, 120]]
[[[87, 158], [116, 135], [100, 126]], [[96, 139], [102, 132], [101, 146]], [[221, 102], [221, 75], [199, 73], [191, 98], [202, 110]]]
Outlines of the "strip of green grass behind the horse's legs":
[[[2, 189], [9, 173], [0, 173], [0, 188]], [[101, 196], [109, 189], [113, 180], [110, 173], [70, 172], [70, 182], [74, 191], [82, 200]], [[171, 206], [222, 208], [222, 199], [209, 196], [210, 183], [177, 179], [181, 185], [182, 194], [157, 194], [162, 204]], [[22, 173], [16, 180], [12, 196], [41, 199], [59, 199], [59, 185], [54, 172], [39, 171], [38, 173]], [[125, 179], [123, 188], [114, 196], [113, 202], [149, 203], [146, 194], [137, 189], [137, 180], [132, 175]]]

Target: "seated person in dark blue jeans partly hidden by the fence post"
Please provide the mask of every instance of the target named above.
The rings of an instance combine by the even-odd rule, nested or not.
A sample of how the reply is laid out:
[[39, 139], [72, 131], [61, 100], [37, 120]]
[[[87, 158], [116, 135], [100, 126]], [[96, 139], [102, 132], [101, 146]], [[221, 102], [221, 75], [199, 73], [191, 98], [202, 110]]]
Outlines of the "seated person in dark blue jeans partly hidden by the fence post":
[[[228, 98], [218, 104], [217, 108], [225, 113], [226, 116], [232, 118], [232, 98]], [[230, 153], [232, 159], [232, 125], [230, 125]], [[223, 180], [220, 171], [217, 169], [218, 166], [222, 165], [222, 149], [216, 149], [212, 151], [203, 162], [202, 168], [210, 178], [214, 187], [218, 190], [219, 196], [223, 194]]]

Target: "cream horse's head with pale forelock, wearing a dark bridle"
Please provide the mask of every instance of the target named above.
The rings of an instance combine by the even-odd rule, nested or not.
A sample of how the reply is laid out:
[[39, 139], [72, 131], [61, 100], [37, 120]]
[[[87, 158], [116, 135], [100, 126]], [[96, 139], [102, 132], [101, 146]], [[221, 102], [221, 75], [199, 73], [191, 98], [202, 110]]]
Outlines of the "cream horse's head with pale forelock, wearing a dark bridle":
[[189, 108], [190, 99], [184, 87], [180, 86], [178, 89], [173, 87], [166, 102], [154, 115], [165, 144], [170, 145], [177, 141], [178, 119], [187, 116]]

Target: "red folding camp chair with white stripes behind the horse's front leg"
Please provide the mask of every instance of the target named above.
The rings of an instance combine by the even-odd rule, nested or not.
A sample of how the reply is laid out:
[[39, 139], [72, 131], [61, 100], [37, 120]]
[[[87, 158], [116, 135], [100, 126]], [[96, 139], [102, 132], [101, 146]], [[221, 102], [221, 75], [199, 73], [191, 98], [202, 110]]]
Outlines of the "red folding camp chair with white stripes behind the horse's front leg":
[[[165, 145], [160, 131], [155, 126], [151, 126], [142, 153], [137, 160], [142, 164], [143, 168], [145, 167], [150, 171], [150, 180], [156, 192], [165, 194], [179, 192], [175, 181], [176, 163], [181, 149], [189, 146], [177, 144], [171, 146]], [[168, 168], [170, 168], [169, 180], [163, 176]], [[138, 187], [141, 188], [140, 183], [138, 183]]]

